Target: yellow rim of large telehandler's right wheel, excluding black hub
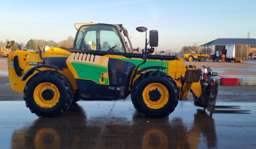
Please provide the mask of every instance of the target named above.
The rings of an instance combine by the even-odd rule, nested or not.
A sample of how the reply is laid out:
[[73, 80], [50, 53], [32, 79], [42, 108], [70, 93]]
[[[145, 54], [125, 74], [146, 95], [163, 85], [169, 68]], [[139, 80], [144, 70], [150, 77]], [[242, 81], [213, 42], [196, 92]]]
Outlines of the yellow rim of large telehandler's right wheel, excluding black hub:
[[[149, 92], [158, 90], [160, 93], [160, 98], [157, 101], [150, 100]], [[145, 102], [145, 104], [152, 109], [159, 109], [166, 105], [169, 99], [169, 92], [167, 88], [160, 83], [151, 83], [148, 86], [145, 87], [145, 89], [142, 92], [142, 98]], [[152, 98], [152, 97], [151, 97]]]

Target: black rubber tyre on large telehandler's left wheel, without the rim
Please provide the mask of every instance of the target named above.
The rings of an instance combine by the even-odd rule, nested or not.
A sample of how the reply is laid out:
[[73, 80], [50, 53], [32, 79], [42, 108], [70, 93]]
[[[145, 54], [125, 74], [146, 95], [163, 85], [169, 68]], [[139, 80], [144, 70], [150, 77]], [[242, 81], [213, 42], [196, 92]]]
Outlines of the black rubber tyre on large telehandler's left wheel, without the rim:
[[[34, 90], [41, 83], [52, 83], [59, 91], [59, 100], [55, 106], [44, 108], [39, 106], [34, 99]], [[24, 100], [31, 113], [38, 117], [56, 117], [64, 113], [72, 103], [73, 87], [70, 81], [56, 71], [41, 71], [30, 78], [24, 88]]]

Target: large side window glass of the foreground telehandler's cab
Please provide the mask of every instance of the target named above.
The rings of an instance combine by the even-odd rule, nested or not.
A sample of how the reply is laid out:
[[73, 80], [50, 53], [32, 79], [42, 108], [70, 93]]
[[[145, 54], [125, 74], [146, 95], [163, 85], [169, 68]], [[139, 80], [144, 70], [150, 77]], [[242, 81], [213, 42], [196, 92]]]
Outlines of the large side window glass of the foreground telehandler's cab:
[[125, 52], [120, 35], [113, 26], [82, 26], [77, 35], [76, 49]]

